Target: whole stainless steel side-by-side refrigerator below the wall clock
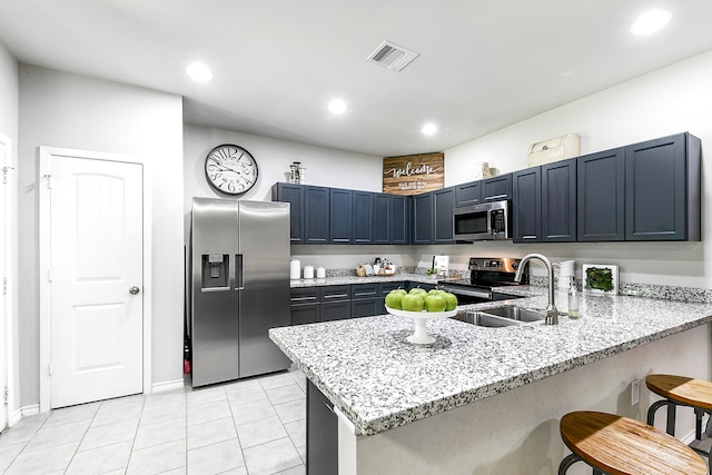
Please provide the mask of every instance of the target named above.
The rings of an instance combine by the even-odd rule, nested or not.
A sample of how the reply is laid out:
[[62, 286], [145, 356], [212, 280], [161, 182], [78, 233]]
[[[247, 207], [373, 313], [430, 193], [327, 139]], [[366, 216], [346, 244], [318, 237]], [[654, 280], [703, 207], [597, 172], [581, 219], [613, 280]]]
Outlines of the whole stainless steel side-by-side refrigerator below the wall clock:
[[289, 205], [194, 198], [190, 248], [192, 386], [289, 367]]

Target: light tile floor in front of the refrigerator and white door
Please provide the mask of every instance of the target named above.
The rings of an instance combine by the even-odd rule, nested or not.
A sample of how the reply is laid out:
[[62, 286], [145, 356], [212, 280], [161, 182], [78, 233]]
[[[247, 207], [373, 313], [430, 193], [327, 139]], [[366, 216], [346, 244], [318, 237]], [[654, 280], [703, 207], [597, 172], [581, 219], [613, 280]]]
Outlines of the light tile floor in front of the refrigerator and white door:
[[298, 369], [22, 418], [0, 435], [2, 474], [305, 474]]

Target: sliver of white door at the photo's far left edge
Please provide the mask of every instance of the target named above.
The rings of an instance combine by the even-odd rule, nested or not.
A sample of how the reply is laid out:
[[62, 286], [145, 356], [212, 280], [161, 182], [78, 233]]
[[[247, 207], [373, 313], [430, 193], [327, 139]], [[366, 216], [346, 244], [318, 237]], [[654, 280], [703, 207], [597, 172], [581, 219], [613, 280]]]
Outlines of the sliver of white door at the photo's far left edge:
[[[7, 388], [8, 321], [10, 318], [10, 139], [0, 135], [0, 388]], [[4, 392], [4, 389], [3, 389]], [[0, 398], [4, 395], [0, 395]], [[0, 400], [0, 431], [8, 425], [8, 406]]]

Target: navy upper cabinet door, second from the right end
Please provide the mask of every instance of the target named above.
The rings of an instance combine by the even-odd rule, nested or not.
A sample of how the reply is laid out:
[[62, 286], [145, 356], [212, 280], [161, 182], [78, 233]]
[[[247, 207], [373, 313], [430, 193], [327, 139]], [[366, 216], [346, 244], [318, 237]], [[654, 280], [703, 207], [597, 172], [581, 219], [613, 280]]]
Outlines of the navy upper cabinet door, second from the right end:
[[625, 159], [616, 148], [576, 159], [578, 241], [625, 238]]

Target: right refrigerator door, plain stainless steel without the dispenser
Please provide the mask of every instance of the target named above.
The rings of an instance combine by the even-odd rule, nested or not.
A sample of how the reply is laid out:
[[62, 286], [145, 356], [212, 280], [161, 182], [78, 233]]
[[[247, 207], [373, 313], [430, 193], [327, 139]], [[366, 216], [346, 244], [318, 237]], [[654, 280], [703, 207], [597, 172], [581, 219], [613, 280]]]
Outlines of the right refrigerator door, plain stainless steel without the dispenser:
[[289, 205], [239, 202], [239, 377], [277, 372], [289, 359], [269, 339], [268, 330], [290, 324]]

